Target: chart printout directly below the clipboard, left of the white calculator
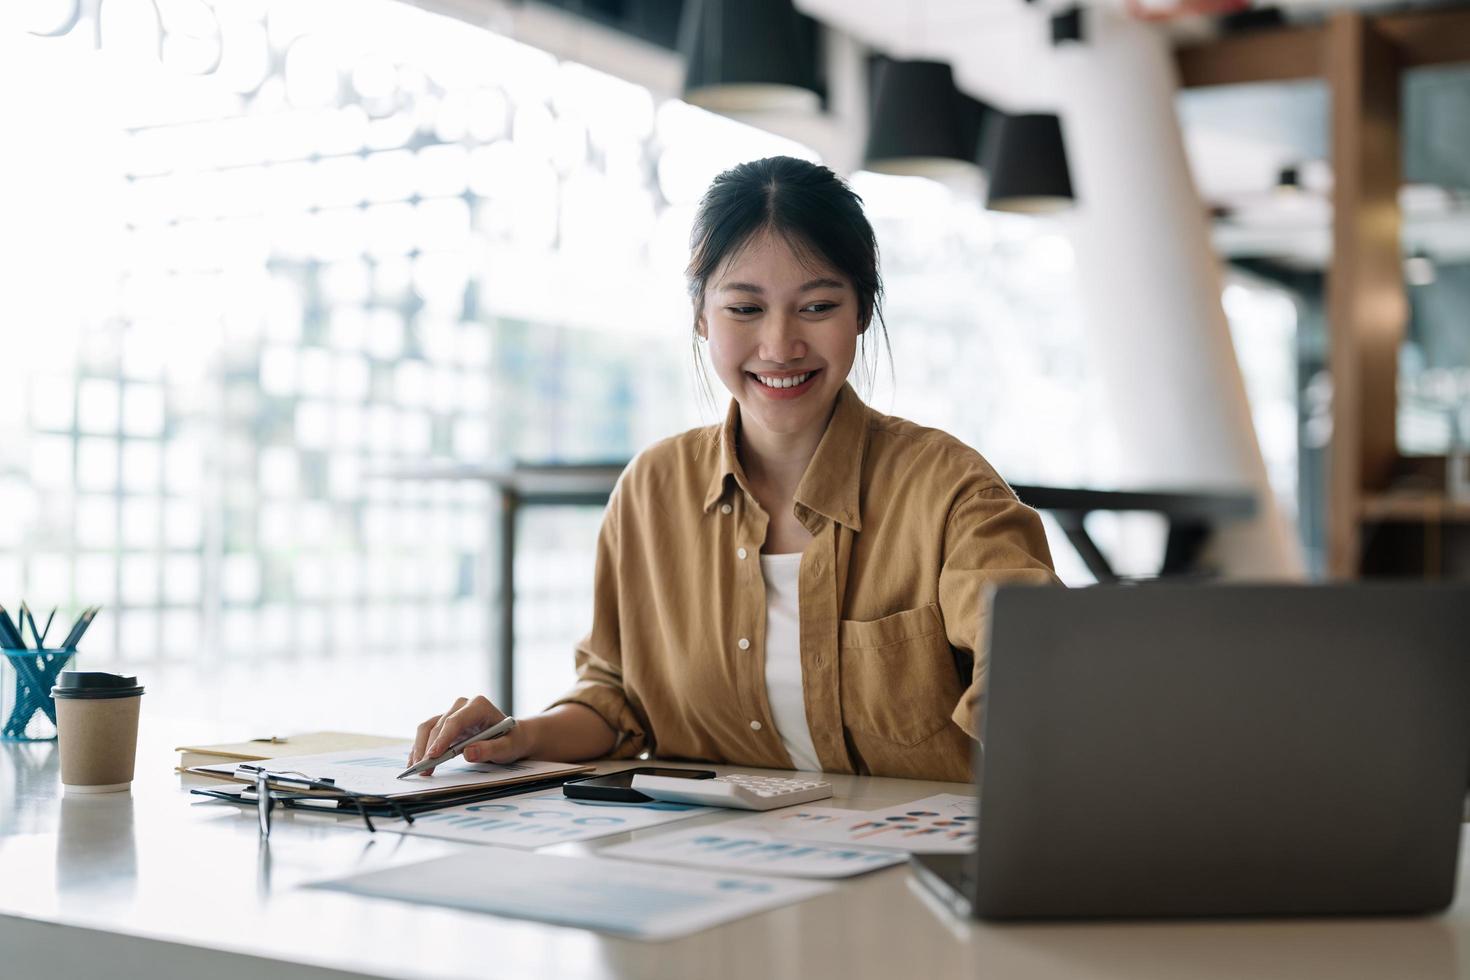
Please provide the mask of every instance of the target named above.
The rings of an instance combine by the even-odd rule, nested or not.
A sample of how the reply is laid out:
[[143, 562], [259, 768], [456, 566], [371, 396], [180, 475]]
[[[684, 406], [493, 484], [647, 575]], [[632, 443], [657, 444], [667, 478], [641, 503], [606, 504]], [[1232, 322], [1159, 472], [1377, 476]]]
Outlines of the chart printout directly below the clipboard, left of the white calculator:
[[560, 790], [513, 799], [487, 799], [417, 814], [413, 823], [379, 820], [379, 830], [422, 837], [491, 843], [503, 848], [539, 848], [564, 840], [591, 840], [628, 830], [688, 820], [714, 813], [691, 804], [585, 804]]

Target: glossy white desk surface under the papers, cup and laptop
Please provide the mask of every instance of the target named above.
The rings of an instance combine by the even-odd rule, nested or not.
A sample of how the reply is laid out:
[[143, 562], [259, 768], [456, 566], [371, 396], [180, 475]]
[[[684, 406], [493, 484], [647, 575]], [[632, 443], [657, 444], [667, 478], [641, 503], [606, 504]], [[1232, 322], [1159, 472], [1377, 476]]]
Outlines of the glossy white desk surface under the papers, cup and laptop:
[[[0, 743], [0, 974], [201, 977], [1311, 977], [1470, 976], [1470, 855], [1461, 895], [1432, 918], [1195, 923], [961, 923], [907, 868], [670, 943], [298, 887], [475, 845], [194, 802], [179, 743], [146, 729], [132, 793], [63, 796], [51, 743]], [[193, 779], [193, 777], [190, 777]], [[833, 776], [832, 805], [878, 808], [954, 783]], [[719, 821], [725, 814], [700, 817]], [[689, 823], [672, 827], [694, 826]], [[597, 851], [654, 827], [553, 845]], [[492, 884], [492, 883], [488, 883]], [[269, 961], [269, 962], [266, 962]]]

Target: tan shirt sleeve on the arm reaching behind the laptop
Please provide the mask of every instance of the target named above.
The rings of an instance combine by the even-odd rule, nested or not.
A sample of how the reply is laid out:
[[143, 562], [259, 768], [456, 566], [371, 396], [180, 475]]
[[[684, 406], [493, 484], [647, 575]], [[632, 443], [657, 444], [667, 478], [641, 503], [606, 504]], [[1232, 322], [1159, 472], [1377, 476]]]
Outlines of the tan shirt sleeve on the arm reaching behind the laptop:
[[939, 611], [950, 645], [973, 655], [969, 688], [951, 716], [970, 738], [980, 733], [989, 666], [986, 623], [997, 585], [1060, 585], [1041, 514], [1007, 486], [986, 486], [963, 497], [945, 523], [939, 570]]

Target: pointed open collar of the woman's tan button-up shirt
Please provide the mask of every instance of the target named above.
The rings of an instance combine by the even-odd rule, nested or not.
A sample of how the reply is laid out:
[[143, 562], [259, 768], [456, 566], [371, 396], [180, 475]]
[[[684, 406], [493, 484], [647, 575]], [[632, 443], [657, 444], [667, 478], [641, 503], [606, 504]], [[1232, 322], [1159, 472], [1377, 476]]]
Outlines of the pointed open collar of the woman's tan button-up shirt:
[[[801, 483], [797, 485], [797, 504], [853, 530], [863, 529], [861, 479], [870, 411], [853, 386], [844, 383], [836, 394], [832, 417], [828, 420], [826, 432], [822, 433], [817, 451], [811, 455]], [[732, 478], [747, 495], [750, 494], [745, 472], [739, 464], [738, 438], [739, 403], [731, 398], [725, 423], [719, 430], [719, 466], [704, 494], [706, 513], [720, 502]]]

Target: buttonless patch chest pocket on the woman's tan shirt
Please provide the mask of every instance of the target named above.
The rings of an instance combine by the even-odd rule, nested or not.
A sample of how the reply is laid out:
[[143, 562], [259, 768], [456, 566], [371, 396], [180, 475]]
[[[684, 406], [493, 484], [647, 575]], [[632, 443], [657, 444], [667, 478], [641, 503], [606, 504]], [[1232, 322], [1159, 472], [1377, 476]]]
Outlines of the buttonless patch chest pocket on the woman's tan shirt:
[[916, 745], [950, 723], [964, 688], [933, 602], [838, 623], [842, 723]]

